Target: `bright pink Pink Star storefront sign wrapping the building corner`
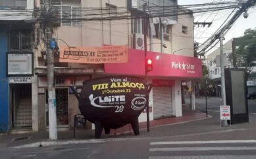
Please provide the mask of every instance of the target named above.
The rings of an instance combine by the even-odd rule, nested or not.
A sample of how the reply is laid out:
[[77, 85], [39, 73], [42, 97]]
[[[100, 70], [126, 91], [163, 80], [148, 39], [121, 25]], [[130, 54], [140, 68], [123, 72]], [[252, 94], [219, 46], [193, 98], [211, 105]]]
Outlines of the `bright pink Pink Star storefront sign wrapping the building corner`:
[[[145, 54], [141, 50], [128, 49], [128, 62], [105, 64], [105, 73], [145, 75]], [[153, 60], [153, 70], [148, 76], [176, 78], [201, 78], [202, 62], [199, 58], [155, 53], [147, 51], [147, 58]]]

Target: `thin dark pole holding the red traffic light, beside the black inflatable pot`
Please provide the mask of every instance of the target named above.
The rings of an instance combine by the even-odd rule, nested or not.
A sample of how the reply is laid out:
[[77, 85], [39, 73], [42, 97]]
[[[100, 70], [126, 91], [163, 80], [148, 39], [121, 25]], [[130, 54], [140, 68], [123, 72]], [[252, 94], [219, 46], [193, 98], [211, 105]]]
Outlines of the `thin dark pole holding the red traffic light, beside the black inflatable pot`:
[[[146, 13], [146, 6], [147, 3], [143, 4], [143, 30], [144, 30], [144, 55], [145, 55], [145, 59], [147, 58], [147, 13]], [[145, 64], [145, 83], [148, 86], [147, 83], [147, 66], [146, 66], [146, 60], [144, 60], [144, 64]], [[147, 132], [149, 132], [149, 101], [147, 101]]]

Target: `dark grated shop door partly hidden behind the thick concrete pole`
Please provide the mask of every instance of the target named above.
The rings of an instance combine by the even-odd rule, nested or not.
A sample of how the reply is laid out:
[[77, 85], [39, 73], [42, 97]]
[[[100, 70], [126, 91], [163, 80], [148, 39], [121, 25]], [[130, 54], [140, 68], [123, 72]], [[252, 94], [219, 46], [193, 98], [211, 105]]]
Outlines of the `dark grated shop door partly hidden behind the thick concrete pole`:
[[[55, 89], [57, 125], [68, 125], [68, 89]], [[45, 91], [45, 101], [48, 105], [48, 91]], [[49, 113], [46, 109], [46, 123], [49, 125]]]

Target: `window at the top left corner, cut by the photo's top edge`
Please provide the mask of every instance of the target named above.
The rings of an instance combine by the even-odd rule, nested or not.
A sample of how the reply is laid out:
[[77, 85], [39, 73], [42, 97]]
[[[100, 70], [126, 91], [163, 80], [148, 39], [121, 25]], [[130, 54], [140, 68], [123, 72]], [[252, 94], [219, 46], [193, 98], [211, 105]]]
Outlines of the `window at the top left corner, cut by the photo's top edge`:
[[26, 10], [26, 0], [0, 0], [0, 9]]

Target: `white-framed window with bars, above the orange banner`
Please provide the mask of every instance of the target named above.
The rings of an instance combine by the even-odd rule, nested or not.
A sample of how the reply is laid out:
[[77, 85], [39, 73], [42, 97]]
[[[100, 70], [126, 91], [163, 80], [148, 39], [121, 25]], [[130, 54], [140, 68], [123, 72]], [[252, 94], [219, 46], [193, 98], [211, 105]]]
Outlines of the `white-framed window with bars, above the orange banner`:
[[81, 6], [53, 5], [55, 24], [62, 26], [81, 26]]

